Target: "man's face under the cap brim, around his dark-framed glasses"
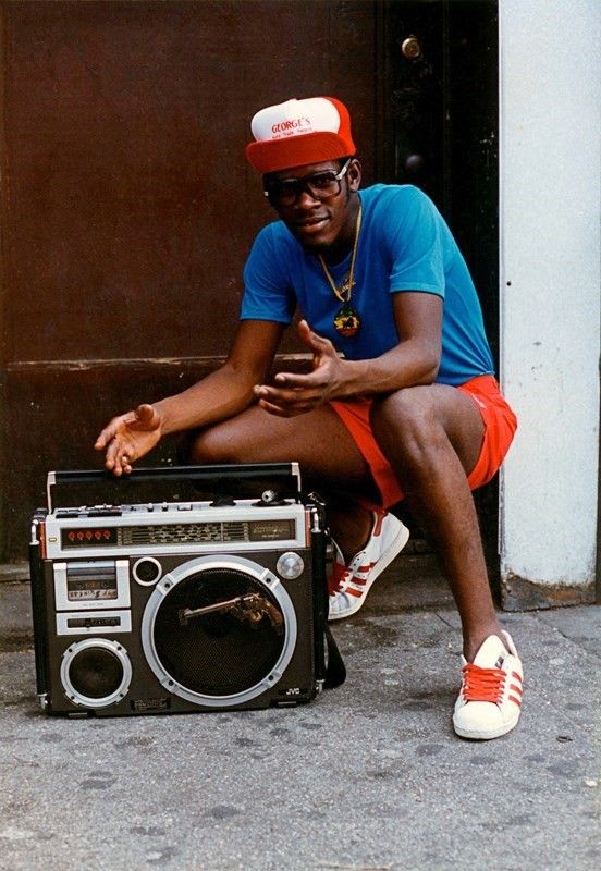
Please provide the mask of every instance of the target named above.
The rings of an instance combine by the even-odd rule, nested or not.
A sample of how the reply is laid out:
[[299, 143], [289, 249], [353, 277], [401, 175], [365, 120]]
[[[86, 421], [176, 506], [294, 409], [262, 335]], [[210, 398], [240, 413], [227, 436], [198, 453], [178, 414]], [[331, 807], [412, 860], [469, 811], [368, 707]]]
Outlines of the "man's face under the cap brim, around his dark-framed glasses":
[[[323, 163], [310, 163], [282, 170], [268, 176], [268, 182], [286, 180], [306, 181], [311, 186], [312, 176], [319, 179], [320, 173], [340, 173], [343, 162], [329, 160]], [[281, 205], [273, 200], [273, 206], [290, 232], [305, 247], [324, 250], [344, 244], [353, 238], [356, 218], [356, 197], [351, 195], [359, 187], [361, 179], [358, 160], [351, 160], [344, 176], [340, 180], [340, 191], [334, 196], [319, 199], [319, 184], [312, 185], [316, 195], [311, 195], [307, 185], [303, 186], [295, 200], [290, 205]], [[269, 188], [269, 184], [268, 184]]]

